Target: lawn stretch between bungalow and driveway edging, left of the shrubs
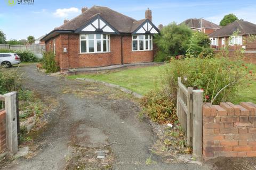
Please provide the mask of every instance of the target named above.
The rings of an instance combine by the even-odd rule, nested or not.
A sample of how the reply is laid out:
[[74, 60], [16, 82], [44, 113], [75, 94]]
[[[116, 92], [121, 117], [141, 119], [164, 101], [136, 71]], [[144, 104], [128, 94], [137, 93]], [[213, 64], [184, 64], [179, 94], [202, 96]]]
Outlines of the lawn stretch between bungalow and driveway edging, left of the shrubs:
[[149, 91], [156, 89], [161, 82], [162, 66], [149, 66], [141, 68], [126, 69], [117, 72], [100, 74], [71, 75], [68, 78], [89, 78], [105, 81], [125, 87], [141, 95], [146, 95]]

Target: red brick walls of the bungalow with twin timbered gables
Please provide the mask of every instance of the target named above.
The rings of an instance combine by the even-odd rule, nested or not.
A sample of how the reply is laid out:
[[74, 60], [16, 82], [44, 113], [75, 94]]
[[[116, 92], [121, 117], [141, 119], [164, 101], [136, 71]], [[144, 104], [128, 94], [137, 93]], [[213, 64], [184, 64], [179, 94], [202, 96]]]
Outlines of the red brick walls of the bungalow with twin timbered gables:
[[[122, 38], [123, 37], [123, 38]], [[46, 51], [53, 50], [53, 39], [55, 39], [56, 61], [62, 71], [82, 67], [100, 67], [122, 64], [123, 39], [123, 63], [152, 62], [154, 51], [132, 52], [131, 35], [110, 35], [110, 52], [80, 54], [80, 42], [78, 34], [60, 34], [46, 41]], [[67, 53], [63, 53], [67, 48]]]

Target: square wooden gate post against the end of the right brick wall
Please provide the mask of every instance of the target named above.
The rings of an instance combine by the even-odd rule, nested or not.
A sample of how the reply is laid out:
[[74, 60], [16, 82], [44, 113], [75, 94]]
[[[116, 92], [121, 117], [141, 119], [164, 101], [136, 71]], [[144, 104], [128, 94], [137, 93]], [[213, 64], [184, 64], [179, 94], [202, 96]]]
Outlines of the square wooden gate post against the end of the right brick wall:
[[193, 156], [201, 157], [203, 149], [203, 90], [193, 90]]

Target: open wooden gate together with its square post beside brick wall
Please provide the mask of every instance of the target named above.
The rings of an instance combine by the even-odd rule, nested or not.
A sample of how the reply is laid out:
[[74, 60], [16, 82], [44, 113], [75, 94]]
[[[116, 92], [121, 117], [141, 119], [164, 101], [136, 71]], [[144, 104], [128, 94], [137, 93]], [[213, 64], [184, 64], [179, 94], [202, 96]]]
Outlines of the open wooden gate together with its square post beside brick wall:
[[[193, 147], [193, 155], [202, 155], [202, 119], [203, 91], [185, 87], [178, 78], [177, 116], [188, 146]], [[201, 148], [201, 149], [200, 149]]]

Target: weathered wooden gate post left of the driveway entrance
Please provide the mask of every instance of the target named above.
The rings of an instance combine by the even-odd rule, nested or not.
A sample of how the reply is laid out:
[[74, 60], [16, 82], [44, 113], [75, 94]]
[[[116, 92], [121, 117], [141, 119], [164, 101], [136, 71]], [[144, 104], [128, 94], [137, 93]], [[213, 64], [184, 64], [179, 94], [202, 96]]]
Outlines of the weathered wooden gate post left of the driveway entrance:
[[17, 92], [9, 92], [5, 97], [6, 147], [13, 154], [18, 152], [17, 136]]

